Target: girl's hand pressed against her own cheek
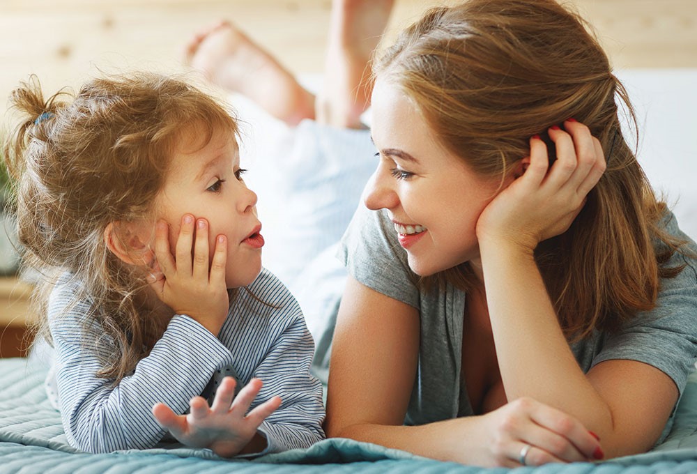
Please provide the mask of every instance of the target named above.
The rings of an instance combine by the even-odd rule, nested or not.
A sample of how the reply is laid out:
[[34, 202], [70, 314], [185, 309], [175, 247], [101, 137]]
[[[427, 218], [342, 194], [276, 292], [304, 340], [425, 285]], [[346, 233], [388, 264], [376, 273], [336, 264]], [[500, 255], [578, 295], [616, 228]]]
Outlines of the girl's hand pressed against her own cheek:
[[208, 222], [197, 220], [194, 231], [194, 216], [182, 217], [175, 259], [169, 251], [169, 226], [160, 221], [155, 230], [155, 257], [162, 277], [151, 278], [150, 284], [160, 300], [176, 314], [187, 314], [217, 336], [230, 304], [225, 284], [226, 237], [215, 239], [209, 270]]

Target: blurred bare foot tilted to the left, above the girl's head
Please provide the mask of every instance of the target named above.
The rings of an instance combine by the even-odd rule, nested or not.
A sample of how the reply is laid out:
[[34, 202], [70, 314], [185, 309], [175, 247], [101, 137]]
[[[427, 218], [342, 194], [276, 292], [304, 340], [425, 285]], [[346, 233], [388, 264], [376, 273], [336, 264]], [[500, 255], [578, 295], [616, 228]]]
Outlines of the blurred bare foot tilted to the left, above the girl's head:
[[210, 82], [246, 95], [289, 125], [314, 119], [314, 95], [229, 22], [194, 36], [185, 55], [185, 62]]

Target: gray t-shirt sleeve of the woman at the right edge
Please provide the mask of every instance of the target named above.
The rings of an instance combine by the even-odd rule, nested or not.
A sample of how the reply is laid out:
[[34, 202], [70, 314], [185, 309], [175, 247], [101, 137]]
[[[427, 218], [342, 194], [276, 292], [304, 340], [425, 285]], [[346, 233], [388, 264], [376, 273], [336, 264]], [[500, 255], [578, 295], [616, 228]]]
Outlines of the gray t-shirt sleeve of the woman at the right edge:
[[656, 307], [609, 335], [592, 365], [613, 359], [644, 362], [671, 377], [682, 396], [697, 358], [697, 246], [677, 228], [675, 217], [666, 220], [666, 230], [686, 241], [687, 254], [675, 252], [664, 265], [682, 266], [682, 271], [661, 280]]

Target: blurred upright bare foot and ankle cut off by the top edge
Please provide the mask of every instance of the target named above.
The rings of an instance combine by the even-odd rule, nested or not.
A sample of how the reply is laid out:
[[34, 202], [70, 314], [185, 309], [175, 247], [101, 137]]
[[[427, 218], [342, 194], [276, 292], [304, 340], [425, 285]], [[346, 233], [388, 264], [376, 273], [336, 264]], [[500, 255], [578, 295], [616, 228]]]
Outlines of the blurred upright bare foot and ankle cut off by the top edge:
[[385, 31], [394, 0], [333, 0], [324, 82], [317, 120], [362, 128], [370, 104], [369, 61]]

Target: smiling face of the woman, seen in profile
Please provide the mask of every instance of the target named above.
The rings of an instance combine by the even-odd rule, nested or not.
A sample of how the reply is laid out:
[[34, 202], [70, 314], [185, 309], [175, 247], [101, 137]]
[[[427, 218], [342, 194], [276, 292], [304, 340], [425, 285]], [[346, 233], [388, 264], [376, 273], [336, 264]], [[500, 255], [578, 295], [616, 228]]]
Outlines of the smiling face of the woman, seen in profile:
[[365, 205], [388, 210], [418, 275], [466, 261], [480, 266], [477, 219], [498, 194], [500, 179], [476, 175], [446, 151], [413, 102], [379, 78], [372, 114], [380, 162], [365, 189]]

